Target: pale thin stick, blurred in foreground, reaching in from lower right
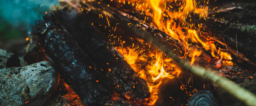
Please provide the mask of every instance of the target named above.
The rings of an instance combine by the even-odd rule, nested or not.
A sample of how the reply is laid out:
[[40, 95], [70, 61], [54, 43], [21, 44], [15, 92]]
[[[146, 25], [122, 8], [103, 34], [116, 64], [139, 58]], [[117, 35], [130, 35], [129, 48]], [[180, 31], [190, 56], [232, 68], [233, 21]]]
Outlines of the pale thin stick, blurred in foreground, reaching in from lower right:
[[137, 30], [135, 27], [131, 28], [136, 35], [142, 37], [144, 40], [148, 42], [152, 42], [152, 44], [156, 45], [160, 50], [162, 50], [165, 54], [171, 57], [174, 61], [180, 64], [183, 68], [191, 71], [192, 73], [212, 81], [213, 83], [218, 84], [220, 87], [224, 88], [230, 94], [234, 95], [236, 98], [240, 99], [242, 102], [247, 104], [248, 106], [256, 106], [256, 96], [253, 95], [251, 92], [245, 90], [244, 88], [240, 87], [236, 83], [233, 83], [229, 79], [226, 79], [222, 76], [219, 76], [216, 72], [213, 72], [209, 69], [190, 65], [185, 61], [180, 60], [172, 51], [172, 48], [164, 46], [162, 42], [159, 40], [152, 38], [150, 33], [145, 32], [144, 30]]

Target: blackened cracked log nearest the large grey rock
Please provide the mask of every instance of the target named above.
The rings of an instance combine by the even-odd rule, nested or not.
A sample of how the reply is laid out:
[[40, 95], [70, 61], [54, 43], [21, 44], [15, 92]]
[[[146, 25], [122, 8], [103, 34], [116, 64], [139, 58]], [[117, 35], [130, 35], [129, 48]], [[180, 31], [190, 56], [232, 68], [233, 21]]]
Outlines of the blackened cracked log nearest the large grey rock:
[[72, 87], [85, 105], [103, 106], [112, 94], [112, 91], [101, 83], [104, 77], [67, 30], [52, 19], [52, 15], [48, 14], [44, 17], [45, 21], [37, 27], [40, 45], [53, 60], [64, 81]]

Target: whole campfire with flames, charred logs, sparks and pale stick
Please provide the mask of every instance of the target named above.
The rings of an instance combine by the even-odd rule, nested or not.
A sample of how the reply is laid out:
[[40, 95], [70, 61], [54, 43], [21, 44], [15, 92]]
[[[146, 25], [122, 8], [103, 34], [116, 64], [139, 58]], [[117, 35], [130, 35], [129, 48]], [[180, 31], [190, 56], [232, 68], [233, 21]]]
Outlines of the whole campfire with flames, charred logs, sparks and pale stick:
[[[59, 3], [45, 12], [19, 53], [1, 53], [5, 63], [0, 70], [8, 73], [1, 76], [3, 80], [11, 83], [22, 76], [20, 83], [26, 83], [18, 85], [16, 93], [8, 91], [12, 87], [0, 89], [8, 91], [0, 105], [14, 101], [18, 106], [56, 106], [60, 101], [60, 106], [256, 105], [255, 34], [246, 31], [253, 23], [234, 21], [256, 4], [215, 7], [209, 0]], [[36, 78], [50, 84], [33, 85]]]

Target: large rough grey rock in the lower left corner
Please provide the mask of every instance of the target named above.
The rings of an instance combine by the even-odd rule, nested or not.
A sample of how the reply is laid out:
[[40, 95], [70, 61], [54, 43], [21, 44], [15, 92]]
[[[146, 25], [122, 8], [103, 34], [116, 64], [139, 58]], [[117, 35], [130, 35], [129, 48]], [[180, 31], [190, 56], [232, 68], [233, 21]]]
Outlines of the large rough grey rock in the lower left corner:
[[0, 69], [0, 106], [42, 106], [58, 86], [48, 61]]

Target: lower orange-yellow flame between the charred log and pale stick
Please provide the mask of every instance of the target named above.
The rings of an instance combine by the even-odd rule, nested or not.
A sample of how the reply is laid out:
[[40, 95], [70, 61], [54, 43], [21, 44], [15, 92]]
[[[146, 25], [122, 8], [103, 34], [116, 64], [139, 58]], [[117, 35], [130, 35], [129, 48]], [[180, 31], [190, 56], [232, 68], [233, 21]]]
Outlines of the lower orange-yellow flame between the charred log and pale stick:
[[[148, 103], [148, 105], [154, 105], [156, 103], [156, 100], [159, 98], [158, 93], [159, 93], [159, 87], [162, 84], [162, 79], [164, 78], [173, 79], [175, 76], [180, 75], [180, 70], [177, 70], [177, 69], [172, 73], [168, 73], [165, 71], [166, 70], [164, 68], [165, 63], [170, 62], [172, 59], [167, 57], [163, 59], [163, 56], [162, 56], [163, 53], [156, 52], [156, 53], [145, 55], [136, 49], [117, 48], [117, 50], [121, 54], [123, 54], [124, 59], [132, 66], [132, 68], [136, 72], [140, 74], [140, 77], [147, 81], [149, 91], [151, 93], [150, 103]], [[152, 57], [154, 59], [152, 59], [151, 64], [148, 64], [148, 68], [141, 69], [138, 67], [138, 63], [136, 61], [143, 60], [144, 62], [147, 63], [144, 57]], [[172, 65], [171, 67], [176, 67], [176, 66]]]

